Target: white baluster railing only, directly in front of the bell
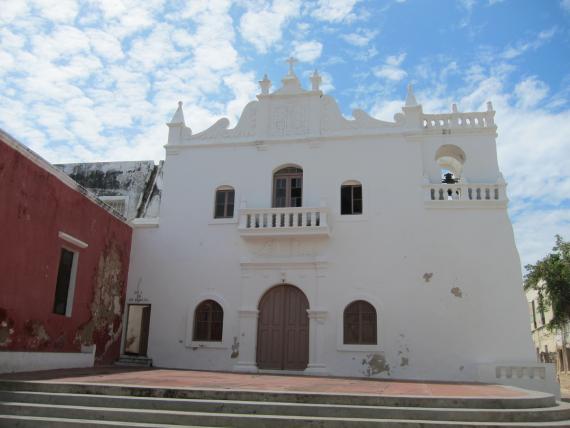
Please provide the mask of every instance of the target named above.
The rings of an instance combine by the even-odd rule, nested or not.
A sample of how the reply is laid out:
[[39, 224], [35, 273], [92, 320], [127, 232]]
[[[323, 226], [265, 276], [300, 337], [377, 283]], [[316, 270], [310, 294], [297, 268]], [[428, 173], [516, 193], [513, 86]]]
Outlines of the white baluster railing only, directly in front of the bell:
[[505, 184], [426, 184], [428, 201], [506, 201]]

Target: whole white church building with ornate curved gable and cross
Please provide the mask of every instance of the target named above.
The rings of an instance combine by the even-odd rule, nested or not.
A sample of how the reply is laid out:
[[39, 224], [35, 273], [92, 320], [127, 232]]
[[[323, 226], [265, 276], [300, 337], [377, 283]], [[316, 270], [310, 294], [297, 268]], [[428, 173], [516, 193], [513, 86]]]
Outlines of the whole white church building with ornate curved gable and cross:
[[493, 107], [343, 117], [290, 62], [229, 128], [182, 103], [134, 220], [124, 352], [155, 366], [555, 390], [537, 364]]

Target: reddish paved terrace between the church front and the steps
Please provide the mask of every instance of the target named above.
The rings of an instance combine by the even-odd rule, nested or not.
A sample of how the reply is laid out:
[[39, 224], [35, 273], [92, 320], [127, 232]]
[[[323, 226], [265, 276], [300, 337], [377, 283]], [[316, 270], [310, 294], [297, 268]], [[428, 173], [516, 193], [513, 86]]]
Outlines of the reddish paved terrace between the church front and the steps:
[[95, 367], [88, 369], [12, 373], [1, 375], [0, 379], [190, 389], [345, 393], [387, 396], [498, 398], [528, 396], [523, 390], [501, 385], [477, 383], [397, 381], [125, 367]]

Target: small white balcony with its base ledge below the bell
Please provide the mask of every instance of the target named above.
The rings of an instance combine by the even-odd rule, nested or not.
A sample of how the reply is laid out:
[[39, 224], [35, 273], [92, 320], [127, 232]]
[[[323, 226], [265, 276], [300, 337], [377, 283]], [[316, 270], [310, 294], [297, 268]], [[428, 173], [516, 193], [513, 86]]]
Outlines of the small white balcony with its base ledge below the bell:
[[473, 205], [506, 206], [506, 184], [497, 183], [426, 183], [424, 200], [430, 206], [469, 207]]

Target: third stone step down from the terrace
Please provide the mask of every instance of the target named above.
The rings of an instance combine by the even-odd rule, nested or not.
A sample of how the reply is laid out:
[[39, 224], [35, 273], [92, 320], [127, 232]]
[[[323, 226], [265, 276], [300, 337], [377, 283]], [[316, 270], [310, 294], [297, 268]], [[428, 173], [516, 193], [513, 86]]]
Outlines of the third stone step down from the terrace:
[[[406, 419], [371, 419], [371, 418], [330, 418], [309, 416], [282, 416], [257, 414], [220, 414], [204, 412], [179, 412], [144, 409], [114, 409], [87, 406], [41, 405], [31, 403], [0, 403], [0, 420], [7, 416], [18, 415], [20, 421], [34, 420], [42, 426], [42, 420], [72, 419], [92, 421], [99, 426], [104, 422], [125, 422], [128, 424], [147, 423], [158, 426], [210, 426], [235, 428], [471, 428], [471, 427], [568, 427], [570, 422], [457, 422]], [[26, 419], [22, 419], [26, 418]], [[28, 425], [30, 426], [30, 425]], [[85, 425], [82, 425], [85, 426]], [[93, 425], [98, 426], [98, 425]], [[120, 425], [119, 425], [120, 426]], [[136, 426], [136, 425], [127, 425]], [[151, 425], [152, 426], [152, 425]]]

